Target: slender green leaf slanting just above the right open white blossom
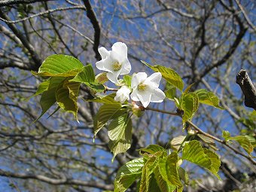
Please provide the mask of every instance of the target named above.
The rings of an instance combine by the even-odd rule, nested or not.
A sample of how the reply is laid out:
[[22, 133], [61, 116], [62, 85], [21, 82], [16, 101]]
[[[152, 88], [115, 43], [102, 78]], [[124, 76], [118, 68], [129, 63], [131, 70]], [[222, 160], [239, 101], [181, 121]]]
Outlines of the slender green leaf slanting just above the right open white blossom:
[[166, 68], [164, 66], [151, 66], [147, 62], [142, 61], [146, 66], [150, 69], [154, 70], [154, 72], [160, 72], [163, 78], [169, 83], [172, 84], [174, 87], [177, 87], [179, 90], [182, 91], [184, 87], [184, 83], [181, 77], [176, 73], [173, 69]]

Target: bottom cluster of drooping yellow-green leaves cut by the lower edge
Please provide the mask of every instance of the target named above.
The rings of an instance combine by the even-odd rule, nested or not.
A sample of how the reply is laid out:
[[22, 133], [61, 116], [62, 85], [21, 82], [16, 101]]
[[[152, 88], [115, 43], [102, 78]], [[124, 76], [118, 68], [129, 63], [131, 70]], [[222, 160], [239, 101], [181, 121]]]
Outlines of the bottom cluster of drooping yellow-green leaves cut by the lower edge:
[[218, 155], [203, 148], [197, 140], [186, 142], [181, 157], [175, 150], [167, 154], [159, 145], [149, 145], [139, 151], [142, 158], [131, 160], [118, 170], [114, 192], [125, 191], [135, 181], [138, 181], [138, 190], [143, 192], [182, 191], [184, 184], [189, 184], [187, 172], [181, 167], [184, 160], [203, 167], [220, 179]]

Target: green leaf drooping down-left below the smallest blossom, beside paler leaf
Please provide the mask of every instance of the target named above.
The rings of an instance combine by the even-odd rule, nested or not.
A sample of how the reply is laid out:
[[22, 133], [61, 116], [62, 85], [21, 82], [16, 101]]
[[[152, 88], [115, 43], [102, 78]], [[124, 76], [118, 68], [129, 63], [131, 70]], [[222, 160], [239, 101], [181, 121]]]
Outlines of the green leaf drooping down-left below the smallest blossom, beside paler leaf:
[[121, 107], [122, 105], [120, 103], [116, 103], [105, 104], [99, 108], [96, 117], [93, 118], [94, 136], [96, 136], [108, 120], [111, 120], [114, 117], [114, 114], [117, 114], [117, 112], [120, 111]]

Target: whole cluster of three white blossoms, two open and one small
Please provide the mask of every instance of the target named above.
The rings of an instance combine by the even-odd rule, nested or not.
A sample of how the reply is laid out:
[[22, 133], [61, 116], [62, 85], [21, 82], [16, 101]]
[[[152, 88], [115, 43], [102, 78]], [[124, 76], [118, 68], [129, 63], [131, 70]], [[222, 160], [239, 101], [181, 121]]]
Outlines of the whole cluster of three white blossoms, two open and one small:
[[[131, 71], [131, 64], [127, 58], [126, 44], [117, 42], [113, 44], [112, 50], [106, 50], [105, 47], [100, 47], [99, 53], [102, 56], [102, 60], [96, 62], [96, 67], [99, 70], [107, 72], [109, 81], [119, 84], [118, 76], [129, 74]], [[120, 87], [114, 99], [123, 103], [126, 100], [130, 100], [131, 96], [133, 101], [142, 102], [145, 108], [150, 102], [163, 102], [166, 96], [158, 88], [161, 78], [162, 75], [160, 72], [156, 72], [149, 77], [145, 72], [139, 72], [133, 75], [131, 87], [127, 87], [126, 85]]]

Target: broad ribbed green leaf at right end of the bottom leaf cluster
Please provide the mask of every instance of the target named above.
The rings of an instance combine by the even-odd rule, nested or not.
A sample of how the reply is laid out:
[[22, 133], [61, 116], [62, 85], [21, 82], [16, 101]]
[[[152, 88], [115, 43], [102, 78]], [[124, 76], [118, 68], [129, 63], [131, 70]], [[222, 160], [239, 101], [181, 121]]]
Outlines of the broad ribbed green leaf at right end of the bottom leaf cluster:
[[202, 145], [197, 140], [185, 144], [182, 159], [202, 166], [220, 179], [218, 176], [218, 165], [221, 165], [221, 161], [218, 155], [208, 149], [202, 148]]

